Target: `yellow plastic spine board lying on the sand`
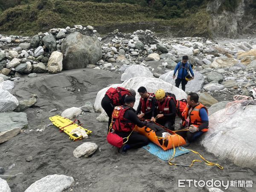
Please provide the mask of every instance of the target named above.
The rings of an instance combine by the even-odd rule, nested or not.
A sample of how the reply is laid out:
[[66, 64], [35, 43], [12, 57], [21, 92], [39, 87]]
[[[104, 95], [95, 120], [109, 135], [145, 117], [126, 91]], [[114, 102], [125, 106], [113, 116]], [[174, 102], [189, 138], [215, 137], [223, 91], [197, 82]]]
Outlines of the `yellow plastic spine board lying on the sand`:
[[[70, 119], [64, 118], [62, 116], [55, 115], [55, 116], [49, 117], [49, 119], [53, 125], [55, 125], [59, 129], [64, 131], [64, 133], [68, 134], [70, 136], [69, 138], [71, 140], [81, 140], [83, 138], [82, 136], [77, 137], [76, 134], [70, 134], [73, 129], [76, 129], [78, 127], [81, 129], [84, 129], [86, 131], [86, 134], [92, 133], [92, 131], [90, 131], [86, 128], [83, 128], [83, 127], [77, 125], [76, 123], [72, 124], [73, 121], [71, 121]], [[69, 125], [69, 124], [71, 124], [71, 125]], [[67, 127], [65, 127], [65, 126], [67, 126]]]

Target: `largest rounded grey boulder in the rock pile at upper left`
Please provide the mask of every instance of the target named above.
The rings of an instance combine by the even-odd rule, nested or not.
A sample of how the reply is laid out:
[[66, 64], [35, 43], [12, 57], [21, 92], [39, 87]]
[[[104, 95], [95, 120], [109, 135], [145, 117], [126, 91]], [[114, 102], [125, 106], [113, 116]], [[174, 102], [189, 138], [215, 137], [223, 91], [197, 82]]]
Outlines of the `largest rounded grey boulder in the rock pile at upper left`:
[[85, 68], [102, 58], [102, 48], [96, 35], [87, 36], [74, 32], [61, 44], [63, 70]]

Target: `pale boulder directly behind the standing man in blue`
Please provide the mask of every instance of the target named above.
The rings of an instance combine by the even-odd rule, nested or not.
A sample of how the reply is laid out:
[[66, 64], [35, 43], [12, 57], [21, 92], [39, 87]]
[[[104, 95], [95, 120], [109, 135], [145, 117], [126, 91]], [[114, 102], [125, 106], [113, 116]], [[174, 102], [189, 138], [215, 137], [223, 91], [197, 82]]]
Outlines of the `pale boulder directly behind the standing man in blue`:
[[[175, 79], [172, 78], [173, 72], [174, 72], [173, 70], [169, 71], [168, 73], [161, 75], [159, 79], [163, 79], [164, 81], [175, 85]], [[194, 74], [195, 74], [195, 78], [192, 79], [191, 81], [188, 81], [188, 83], [186, 84], [186, 91], [197, 92], [197, 91], [200, 91], [204, 85], [204, 76], [197, 71], [194, 71]], [[180, 87], [181, 87], [181, 84], [180, 84]]]

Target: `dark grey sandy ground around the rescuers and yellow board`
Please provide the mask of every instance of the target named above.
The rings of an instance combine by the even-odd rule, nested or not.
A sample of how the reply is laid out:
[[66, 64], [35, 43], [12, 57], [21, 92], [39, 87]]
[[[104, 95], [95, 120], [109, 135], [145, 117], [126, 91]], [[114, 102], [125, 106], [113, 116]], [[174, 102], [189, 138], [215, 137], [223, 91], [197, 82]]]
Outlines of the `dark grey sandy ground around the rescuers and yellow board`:
[[[59, 115], [66, 108], [81, 107], [85, 102], [94, 102], [96, 93], [108, 84], [121, 83], [120, 75], [104, 70], [79, 69], [60, 74], [41, 74], [37, 78], [22, 78], [15, 83], [12, 93], [19, 100], [29, 99], [30, 94], [38, 95], [34, 108], [25, 112], [28, 115], [29, 128], [0, 144], [0, 167], [5, 175], [16, 175], [6, 179], [12, 192], [23, 192], [36, 180], [47, 175], [67, 175], [75, 179], [71, 187], [75, 192], [83, 191], [207, 191], [205, 187], [178, 187], [178, 179], [196, 180], [253, 180], [253, 188], [229, 188], [227, 191], [256, 191], [256, 174], [251, 169], [241, 168], [227, 159], [215, 157], [198, 144], [188, 148], [198, 151], [207, 160], [219, 163], [224, 170], [204, 163], [195, 163], [192, 168], [169, 166], [168, 163], [149, 154], [143, 148], [119, 154], [117, 148], [109, 145], [105, 139], [107, 122], [99, 122], [99, 113], [85, 113], [79, 120], [84, 127], [93, 131], [86, 140], [72, 141], [58, 128], [50, 126], [43, 132], [37, 128], [48, 125], [49, 116]], [[65, 89], [66, 88], [66, 89]], [[68, 88], [75, 88], [72, 92]], [[80, 92], [78, 91], [80, 89]], [[49, 113], [50, 110], [58, 110]], [[29, 132], [30, 129], [34, 131]], [[76, 158], [73, 150], [84, 142], [96, 143], [99, 148], [89, 158]], [[26, 162], [26, 157], [32, 161]], [[195, 154], [184, 154], [174, 159], [181, 164], [190, 164], [198, 159]], [[8, 169], [15, 163], [15, 167]], [[224, 189], [220, 187], [221, 189]], [[66, 191], [70, 191], [67, 189]]]

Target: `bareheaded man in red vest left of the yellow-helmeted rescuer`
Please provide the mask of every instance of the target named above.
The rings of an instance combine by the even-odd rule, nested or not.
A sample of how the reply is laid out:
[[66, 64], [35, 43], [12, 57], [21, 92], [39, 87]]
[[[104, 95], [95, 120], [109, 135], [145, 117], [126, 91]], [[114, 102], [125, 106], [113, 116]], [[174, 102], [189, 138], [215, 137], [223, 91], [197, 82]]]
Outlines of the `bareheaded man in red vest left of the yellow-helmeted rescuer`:
[[155, 110], [156, 102], [154, 93], [148, 93], [145, 87], [140, 87], [138, 89], [138, 93], [140, 94], [140, 103], [138, 105], [136, 114], [139, 118], [151, 119], [153, 117], [152, 111]]

